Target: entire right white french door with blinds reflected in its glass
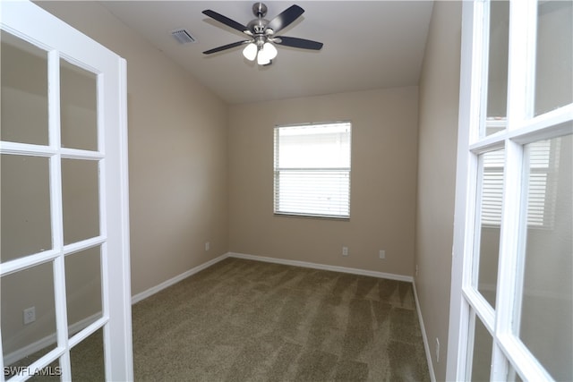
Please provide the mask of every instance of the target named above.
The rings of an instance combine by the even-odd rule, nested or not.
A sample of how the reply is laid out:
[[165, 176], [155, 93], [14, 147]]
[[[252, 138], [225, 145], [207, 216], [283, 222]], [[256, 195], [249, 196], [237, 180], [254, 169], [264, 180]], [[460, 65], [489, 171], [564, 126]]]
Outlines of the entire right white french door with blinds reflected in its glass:
[[463, 4], [449, 380], [573, 380], [572, 24]]

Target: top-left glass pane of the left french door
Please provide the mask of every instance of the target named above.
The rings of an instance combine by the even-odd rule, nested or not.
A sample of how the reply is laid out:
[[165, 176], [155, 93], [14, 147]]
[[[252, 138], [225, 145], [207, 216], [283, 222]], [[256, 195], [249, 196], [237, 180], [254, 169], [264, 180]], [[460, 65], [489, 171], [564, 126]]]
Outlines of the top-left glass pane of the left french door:
[[47, 145], [47, 53], [0, 31], [0, 140]]

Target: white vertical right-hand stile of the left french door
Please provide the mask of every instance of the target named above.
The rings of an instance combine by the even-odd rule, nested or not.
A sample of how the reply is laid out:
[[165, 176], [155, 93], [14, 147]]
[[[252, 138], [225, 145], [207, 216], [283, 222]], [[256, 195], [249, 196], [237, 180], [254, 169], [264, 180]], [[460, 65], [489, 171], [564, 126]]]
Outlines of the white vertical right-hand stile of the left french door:
[[[98, 75], [98, 87], [113, 86], [115, 97], [98, 90], [98, 97], [105, 94], [105, 102], [98, 106], [98, 111], [108, 115], [115, 115], [111, 123], [116, 123], [117, 130], [98, 127], [98, 149], [107, 152], [107, 158], [100, 162], [100, 168], [106, 170], [105, 184], [102, 187], [107, 191], [102, 196], [114, 198], [102, 199], [107, 208], [105, 214], [111, 215], [117, 211], [115, 219], [102, 215], [106, 222], [106, 235], [108, 242], [103, 247], [102, 269], [107, 269], [107, 293], [104, 293], [104, 307], [107, 308], [108, 324], [104, 327], [104, 344], [106, 345], [105, 367], [106, 378], [109, 380], [133, 380], [133, 337], [132, 337], [132, 277], [130, 260], [130, 228], [129, 228], [129, 173], [128, 173], [128, 142], [127, 142], [127, 63], [124, 58], [117, 56], [113, 63], [113, 70], [107, 76]], [[107, 84], [111, 76], [112, 83]], [[110, 101], [115, 99], [115, 102]], [[103, 107], [107, 109], [104, 111]], [[115, 114], [116, 113], [116, 114]], [[103, 115], [103, 114], [102, 114]], [[101, 119], [98, 119], [98, 121]], [[105, 127], [104, 121], [104, 127]], [[99, 122], [98, 122], [99, 126]], [[116, 171], [110, 166], [118, 166]], [[122, 256], [111, 256], [113, 250], [119, 250]], [[105, 266], [105, 267], [104, 267]], [[106, 273], [102, 272], [102, 276]], [[102, 278], [102, 281], [105, 277]], [[103, 285], [106, 283], [102, 283]], [[114, 291], [114, 293], [111, 293]], [[105, 303], [107, 299], [107, 304]], [[116, 343], [116, 344], [115, 344]]]

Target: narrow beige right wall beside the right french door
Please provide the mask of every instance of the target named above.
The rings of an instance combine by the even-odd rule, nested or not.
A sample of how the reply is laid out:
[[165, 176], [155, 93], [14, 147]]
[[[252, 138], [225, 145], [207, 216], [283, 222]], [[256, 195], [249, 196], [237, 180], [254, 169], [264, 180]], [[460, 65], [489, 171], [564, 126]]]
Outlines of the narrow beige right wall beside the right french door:
[[461, 2], [434, 3], [420, 81], [415, 285], [437, 380], [446, 378], [448, 352], [461, 8]]

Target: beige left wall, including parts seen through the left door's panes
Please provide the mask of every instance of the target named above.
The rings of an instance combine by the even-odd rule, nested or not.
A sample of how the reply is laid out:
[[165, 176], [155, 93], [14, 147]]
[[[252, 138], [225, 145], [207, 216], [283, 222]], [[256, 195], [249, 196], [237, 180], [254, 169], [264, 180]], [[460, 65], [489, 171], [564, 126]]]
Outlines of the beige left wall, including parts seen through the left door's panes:
[[[128, 62], [132, 293], [141, 293], [226, 253], [228, 250], [227, 105], [210, 90], [202, 87], [182, 68], [151, 47], [132, 30], [127, 29], [99, 4], [91, 2], [39, 2], [38, 4], [123, 56]], [[3, 65], [7, 57], [3, 52]], [[11, 83], [9, 85], [17, 88]], [[31, 118], [22, 120], [21, 116], [14, 113], [4, 115], [4, 110], [16, 110], [13, 104], [9, 107], [4, 105], [4, 101], [27, 105], [30, 105], [30, 102], [33, 105], [41, 104], [45, 102], [45, 99], [42, 101], [42, 91], [30, 86], [9, 89], [8, 93], [15, 97], [4, 99], [3, 89], [3, 135], [18, 133], [18, 129], [4, 130], [7, 126], [4, 124], [6, 118], [36, 122]], [[70, 105], [64, 114], [68, 111], [71, 115], [83, 113], [84, 99], [75, 98], [74, 101], [78, 105]], [[86, 113], [90, 114], [90, 111]], [[65, 129], [66, 134], [73, 136], [73, 140], [81, 140], [81, 135]], [[3, 136], [3, 139], [8, 137]], [[37, 162], [29, 160], [27, 163], [30, 165], [25, 166], [18, 161], [16, 163], [11, 160], [3, 161], [3, 260], [16, 256], [13, 253], [19, 250], [23, 250], [21, 254], [26, 254], [45, 249], [46, 242], [49, 245], [49, 233], [46, 234], [38, 226], [33, 230], [38, 233], [38, 241], [35, 242], [27, 236], [24, 242], [30, 248], [18, 248], [19, 244], [16, 242], [19, 234], [32, 231], [28, 229], [32, 223], [38, 225], [38, 222], [24, 218], [25, 216], [38, 218], [38, 214], [31, 214], [25, 208], [30, 209], [34, 206], [35, 210], [41, 210], [45, 216], [49, 213], [46, 203], [43, 206], [37, 205], [47, 202], [47, 198], [42, 196], [42, 192], [44, 194], [47, 192], [47, 163]], [[75, 167], [66, 166], [65, 174], [69, 174], [73, 182], [67, 186], [67, 183], [64, 184], [64, 208], [70, 206], [68, 209], [71, 219], [81, 218], [81, 211], [85, 211], [86, 203], [90, 204], [93, 201], [93, 195], [89, 192], [86, 194], [83, 187], [93, 181], [90, 178], [90, 175], [94, 174], [93, 171], [86, 174], [85, 169]], [[29, 171], [32, 170], [38, 176], [31, 175]], [[44, 174], [40, 175], [42, 172]], [[80, 175], [85, 176], [80, 177]], [[8, 178], [10, 182], [4, 182]], [[35, 186], [38, 183], [41, 187], [37, 188]], [[12, 187], [16, 184], [21, 185], [20, 193], [26, 193], [26, 198], [36, 204], [20, 206], [19, 211], [6, 208], [10, 205], [6, 202], [10, 199], [7, 195], [13, 195], [14, 198], [19, 195], [18, 190], [13, 190]], [[82, 187], [75, 187], [78, 184]], [[37, 194], [30, 195], [34, 192]], [[79, 195], [85, 197], [83, 202], [78, 199]], [[21, 215], [22, 211], [24, 215]], [[19, 226], [11, 227], [6, 222], [14, 222]], [[86, 230], [90, 231], [94, 226], [93, 223], [92, 221], [88, 225], [78, 225], [72, 221], [66, 223], [64, 219], [64, 224], [69, 227], [68, 232], [72, 234], [70, 237], [79, 237], [78, 235], [83, 235]], [[95, 224], [97, 226], [97, 222]], [[209, 251], [204, 249], [205, 242], [210, 242]], [[10, 250], [13, 250], [13, 253]], [[98, 280], [92, 277], [98, 275], [97, 256], [95, 262], [93, 255], [88, 257], [90, 259], [86, 259], [85, 262], [75, 257], [66, 259], [68, 269], [74, 269], [66, 278], [70, 286], [69, 302], [74, 310], [68, 315], [70, 323], [90, 316], [99, 308]], [[52, 284], [49, 266], [3, 277], [4, 353], [12, 352], [24, 344], [30, 344], [54, 333], [54, 297], [53, 287], [50, 286]], [[22, 309], [30, 306], [36, 307], [37, 321], [24, 327]]]

